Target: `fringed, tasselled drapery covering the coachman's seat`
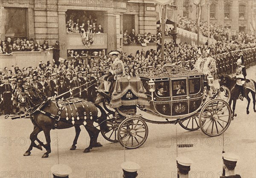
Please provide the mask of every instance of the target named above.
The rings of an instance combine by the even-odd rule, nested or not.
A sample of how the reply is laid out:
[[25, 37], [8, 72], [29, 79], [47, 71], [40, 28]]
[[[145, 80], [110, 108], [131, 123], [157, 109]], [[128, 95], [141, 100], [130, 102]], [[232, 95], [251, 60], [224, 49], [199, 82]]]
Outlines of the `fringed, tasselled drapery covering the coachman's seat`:
[[145, 92], [146, 90], [139, 77], [118, 78], [109, 106], [112, 108], [135, 105], [149, 106]]

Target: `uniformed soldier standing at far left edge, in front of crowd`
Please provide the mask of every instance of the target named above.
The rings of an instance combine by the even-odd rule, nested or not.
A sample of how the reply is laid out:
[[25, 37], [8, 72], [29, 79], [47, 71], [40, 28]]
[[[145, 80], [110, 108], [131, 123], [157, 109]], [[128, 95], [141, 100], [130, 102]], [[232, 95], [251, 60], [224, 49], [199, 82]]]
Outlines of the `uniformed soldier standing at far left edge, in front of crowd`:
[[12, 111], [12, 86], [8, 83], [8, 77], [3, 78], [0, 85], [0, 96], [3, 101], [4, 115], [10, 115]]

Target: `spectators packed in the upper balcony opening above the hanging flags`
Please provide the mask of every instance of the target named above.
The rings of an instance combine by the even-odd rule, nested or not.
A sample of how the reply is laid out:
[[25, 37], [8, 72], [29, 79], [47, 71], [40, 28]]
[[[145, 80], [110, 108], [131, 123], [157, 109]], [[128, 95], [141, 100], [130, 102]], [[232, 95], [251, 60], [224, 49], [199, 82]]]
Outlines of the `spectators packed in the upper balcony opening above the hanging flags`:
[[69, 20], [66, 24], [66, 32], [67, 33], [104, 33], [104, 29], [102, 28], [102, 25], [98, 23], [97, 17], [92, 18], [92, 15], [90, 14], [88, 17], [83, 15], [80, 18], [76, 18], [75, 13], [71, 13]]

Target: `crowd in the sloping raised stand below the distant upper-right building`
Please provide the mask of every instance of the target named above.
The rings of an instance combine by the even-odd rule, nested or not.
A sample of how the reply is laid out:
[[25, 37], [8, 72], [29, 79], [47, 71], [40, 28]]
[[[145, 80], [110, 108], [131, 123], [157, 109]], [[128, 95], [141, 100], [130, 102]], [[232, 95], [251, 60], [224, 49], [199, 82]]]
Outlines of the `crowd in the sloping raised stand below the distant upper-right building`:
[[[178, 27], [187, 31], [197, 33], [197, 21], [189, 19], [188, 17], [181, 17], [178, 15]], [[228, 27], [219, 26], [215, 23], [210, 23], [210, 37], [217, 41], [230, 42], [237, 41], [239, 43], [255, 43], [256, 34], [246, 34], [245, 32], [233, 32]], [[200, 33], [208, 37], [208, 23], [200, 21]]]

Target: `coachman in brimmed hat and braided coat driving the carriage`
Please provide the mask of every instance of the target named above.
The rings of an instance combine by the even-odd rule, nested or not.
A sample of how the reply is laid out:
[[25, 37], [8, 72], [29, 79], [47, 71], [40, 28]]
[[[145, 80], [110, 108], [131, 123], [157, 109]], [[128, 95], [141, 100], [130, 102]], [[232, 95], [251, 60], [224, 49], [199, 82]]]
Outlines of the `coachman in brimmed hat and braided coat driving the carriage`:
[[[111, 51], [108, 55], [112, 55], [113, 61], [113, 69], [109, 70], [109, 75], [104, 79], [104, 88], [105, 92], [109, 92], [111, 83], [116, 80], [119, 76], [125, 75], [125, 67], [122, 60], [119, 59], [118, 55], [120, 54], [119, 51]], [[107, 80], [106, 80], [107, 79]]]

